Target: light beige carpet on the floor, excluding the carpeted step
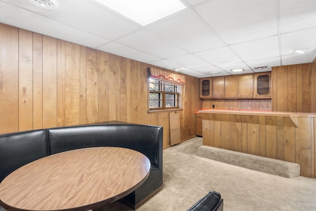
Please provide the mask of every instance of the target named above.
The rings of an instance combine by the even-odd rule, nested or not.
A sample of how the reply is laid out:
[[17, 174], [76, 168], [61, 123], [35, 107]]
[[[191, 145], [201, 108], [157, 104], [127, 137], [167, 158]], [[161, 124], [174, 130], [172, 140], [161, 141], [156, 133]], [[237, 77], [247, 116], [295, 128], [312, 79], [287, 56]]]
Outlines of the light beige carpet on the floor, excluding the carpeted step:
[[[210, 190], [224, 211], [316, 211], [316, 179], [284, 178], [197, 156], [201, 138], [163, 151], [163, 189], [137, 211], [186, 211]], [[132, 211], [114, 202], [95, 211]]]

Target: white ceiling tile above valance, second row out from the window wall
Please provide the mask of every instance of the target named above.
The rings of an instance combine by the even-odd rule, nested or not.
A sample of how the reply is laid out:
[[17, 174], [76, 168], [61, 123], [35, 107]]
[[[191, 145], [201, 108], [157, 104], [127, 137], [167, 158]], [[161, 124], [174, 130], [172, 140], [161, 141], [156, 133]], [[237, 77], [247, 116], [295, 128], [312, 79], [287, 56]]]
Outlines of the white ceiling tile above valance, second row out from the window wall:
[[173, 62], [175, 64], [179, 64], [181, 66], [187, 67], [189, 69], [195, 69], [195, 68], [202, 68], [210, 66], [209, 63], [201, 60], [200, 58], [197, 58], [193, 54], [187, 54], [183, 56], [177, 56], [166, 59], [170, 62]]

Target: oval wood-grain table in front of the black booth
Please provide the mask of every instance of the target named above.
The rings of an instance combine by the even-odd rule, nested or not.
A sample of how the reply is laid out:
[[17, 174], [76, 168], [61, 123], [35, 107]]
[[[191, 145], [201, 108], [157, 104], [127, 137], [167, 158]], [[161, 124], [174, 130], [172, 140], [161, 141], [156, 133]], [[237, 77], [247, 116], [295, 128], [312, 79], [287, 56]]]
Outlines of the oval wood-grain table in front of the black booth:
[[18, 211], [91, 210], [133, 192], [149, 172], [148, 158], [131, 149], [92, 147], [61, 152], [5, 177], [0, 183], [0, 204]]

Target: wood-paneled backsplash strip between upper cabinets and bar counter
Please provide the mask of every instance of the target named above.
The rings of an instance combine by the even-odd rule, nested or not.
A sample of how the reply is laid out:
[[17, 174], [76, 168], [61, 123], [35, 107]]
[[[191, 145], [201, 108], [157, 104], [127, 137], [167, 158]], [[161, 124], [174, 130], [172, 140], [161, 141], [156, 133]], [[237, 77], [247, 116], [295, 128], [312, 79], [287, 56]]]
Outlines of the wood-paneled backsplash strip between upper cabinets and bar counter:
[[272, 110], [271, 99], [210, 99], [202, 100], [202, 108], [231, 108], [247, 110]]

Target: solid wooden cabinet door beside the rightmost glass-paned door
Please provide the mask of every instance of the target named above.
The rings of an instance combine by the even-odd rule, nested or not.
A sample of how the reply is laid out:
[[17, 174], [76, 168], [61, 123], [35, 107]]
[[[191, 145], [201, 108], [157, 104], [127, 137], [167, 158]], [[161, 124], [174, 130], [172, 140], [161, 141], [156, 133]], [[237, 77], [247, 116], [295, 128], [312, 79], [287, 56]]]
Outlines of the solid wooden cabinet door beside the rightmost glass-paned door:
[[238, 75], [238, 98], [253, 97], [253, 74]]

